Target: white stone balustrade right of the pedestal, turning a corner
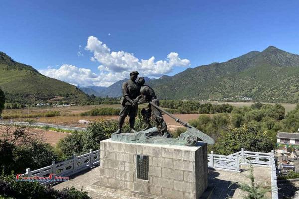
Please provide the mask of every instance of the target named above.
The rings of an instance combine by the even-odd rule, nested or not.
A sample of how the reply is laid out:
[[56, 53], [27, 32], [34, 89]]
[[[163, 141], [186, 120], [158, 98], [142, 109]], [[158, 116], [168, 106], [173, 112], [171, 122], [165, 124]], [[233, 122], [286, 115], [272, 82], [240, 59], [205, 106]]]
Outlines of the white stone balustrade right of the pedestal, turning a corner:
[[278, 199], [274, 151], [271, 151], [271, 153], [262, 153], [244, 151], [242, 148], [241, 151], [227, 156], [216, 155], [213, 153], [213, 151], [208, 154], [208, 166], [214, 169], [240, 172], [240, 165], [242, 164], [253, 164], [256, 166], [270, 167], [272, 199]]

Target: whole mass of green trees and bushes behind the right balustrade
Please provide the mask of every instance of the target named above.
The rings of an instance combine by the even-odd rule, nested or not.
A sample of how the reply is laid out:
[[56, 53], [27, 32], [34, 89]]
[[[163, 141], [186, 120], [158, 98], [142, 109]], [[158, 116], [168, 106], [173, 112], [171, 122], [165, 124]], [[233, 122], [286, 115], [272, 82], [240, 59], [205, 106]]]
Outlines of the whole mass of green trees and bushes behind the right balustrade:
[[[299, 109], [296, 111], [299, 112]], [[288, 113], [286, 118], [297, 114], [296, 111]], [[284, 119], [284, 114], [285, 109], [280, 104], [255, 103], [251, 107], [235, 107], [231, 114], [201, 115], [191, 120], [190, 124], [215, 139], [216, 144], [209, 146], [209, 150], [217, 154], [228, 155], [240, 151], [242, 147], [265, 152], [274, 148], [278, 130], [290, 129], [291, 125]], [[299, 126], [299, 121], [291, 124]]]

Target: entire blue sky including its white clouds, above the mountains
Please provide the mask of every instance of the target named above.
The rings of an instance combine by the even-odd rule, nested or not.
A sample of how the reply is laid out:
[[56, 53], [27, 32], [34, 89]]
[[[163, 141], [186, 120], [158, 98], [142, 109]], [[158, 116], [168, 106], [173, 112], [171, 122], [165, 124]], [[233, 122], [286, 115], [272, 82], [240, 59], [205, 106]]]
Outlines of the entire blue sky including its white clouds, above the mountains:
[[81, 86], [133, 69], [174, 75], [269, 45], [299, 54], [296, 0], [1, 0], [0, 10], [0, 51]]

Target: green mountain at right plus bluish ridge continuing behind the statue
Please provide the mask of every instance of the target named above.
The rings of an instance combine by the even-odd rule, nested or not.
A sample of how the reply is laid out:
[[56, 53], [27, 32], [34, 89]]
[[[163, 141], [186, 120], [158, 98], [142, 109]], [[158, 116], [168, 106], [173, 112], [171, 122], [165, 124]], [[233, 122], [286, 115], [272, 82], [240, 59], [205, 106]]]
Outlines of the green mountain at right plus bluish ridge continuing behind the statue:
[[[121, 95], [121, 80], [103, 96]], [[188, 68], [174, 76], [147, 79], [159, 99], [299, 102], [299, 55], [274, 46], [222, 63]]]

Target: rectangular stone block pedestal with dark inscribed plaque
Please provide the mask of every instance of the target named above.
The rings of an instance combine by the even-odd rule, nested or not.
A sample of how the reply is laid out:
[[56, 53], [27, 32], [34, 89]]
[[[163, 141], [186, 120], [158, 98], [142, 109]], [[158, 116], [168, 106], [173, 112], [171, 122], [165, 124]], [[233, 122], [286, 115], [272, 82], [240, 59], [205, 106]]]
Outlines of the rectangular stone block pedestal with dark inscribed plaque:
[[207, 144], [188, 147], [103, 140], [100, 183], [172, 199], [199, 199], [208, 186]]

